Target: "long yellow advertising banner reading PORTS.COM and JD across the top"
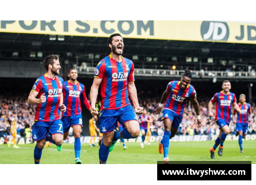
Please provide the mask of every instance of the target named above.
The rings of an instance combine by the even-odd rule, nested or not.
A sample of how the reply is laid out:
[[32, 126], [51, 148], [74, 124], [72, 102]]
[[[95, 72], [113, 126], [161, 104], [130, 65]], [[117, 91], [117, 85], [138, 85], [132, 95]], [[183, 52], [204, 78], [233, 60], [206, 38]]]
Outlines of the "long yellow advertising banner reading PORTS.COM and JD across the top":
[[0, 32], [256, 44], [256, 24], [179, 20], [2, 20]]

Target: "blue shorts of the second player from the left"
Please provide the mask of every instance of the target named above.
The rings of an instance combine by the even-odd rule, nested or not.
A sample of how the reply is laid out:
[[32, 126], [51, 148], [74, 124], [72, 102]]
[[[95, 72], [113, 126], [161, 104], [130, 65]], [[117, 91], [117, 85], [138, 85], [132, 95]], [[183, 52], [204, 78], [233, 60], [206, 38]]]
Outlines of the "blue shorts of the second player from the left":
[[82, 115], [71, 115], [70, 117], [62, 117], [63, 122], [63, 132], [66, 133], [69, 131], [70, 127], [74, 125], [80, 125], [82, 127]]

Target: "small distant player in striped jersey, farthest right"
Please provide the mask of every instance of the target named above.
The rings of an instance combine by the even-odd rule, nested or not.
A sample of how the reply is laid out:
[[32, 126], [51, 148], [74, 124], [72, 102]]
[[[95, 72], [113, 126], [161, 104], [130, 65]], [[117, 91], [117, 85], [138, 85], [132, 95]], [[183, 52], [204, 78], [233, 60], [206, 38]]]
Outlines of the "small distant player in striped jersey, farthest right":
[[234, 110], [233, 113], [235, 116], [234, 123], [236, 123], [237, 135], [239, 135], [238, 143], [240, 152], [244, 153], [242, 138], [245, 138], [248, 129], [248, 121], [251, 120], [251, 105], [245, 102], [246, 96], [244, 94], [240, 95], [239, 101], [238, 106], [241, 109], [241, 113], [237, 113], [236, 110]]

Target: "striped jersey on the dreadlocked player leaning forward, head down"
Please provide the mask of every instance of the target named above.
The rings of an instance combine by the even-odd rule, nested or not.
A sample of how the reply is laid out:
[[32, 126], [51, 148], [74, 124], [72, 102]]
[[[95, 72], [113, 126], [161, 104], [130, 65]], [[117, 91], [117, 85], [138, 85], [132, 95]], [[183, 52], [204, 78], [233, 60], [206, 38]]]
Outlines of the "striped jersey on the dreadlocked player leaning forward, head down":
[[169, 92], [167, 101], [164, 104], [164, 109], [174, 111], [179, 115], [183, 115], [186, 99], [195, 100], [197, 92], [193, 85], [188, 84], [185, 89], [180, 88], [180, 81], [171, 81], [168, 83], [167, 92]]

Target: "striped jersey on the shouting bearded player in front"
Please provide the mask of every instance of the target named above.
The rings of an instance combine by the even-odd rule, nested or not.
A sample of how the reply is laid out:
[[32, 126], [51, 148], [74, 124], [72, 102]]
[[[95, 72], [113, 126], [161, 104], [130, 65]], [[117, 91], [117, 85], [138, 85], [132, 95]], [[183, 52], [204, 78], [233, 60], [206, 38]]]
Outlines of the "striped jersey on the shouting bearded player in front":
[[134, 81], [134, 64], [132, 60], [122, 57], [121, 62], [115, 61], [111, 55], [102, 59], [94, 73], [101, 81], [101, 110], [118, 109], [131, 104], [127, 85]]

